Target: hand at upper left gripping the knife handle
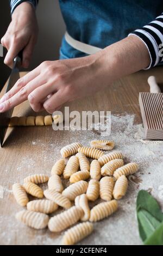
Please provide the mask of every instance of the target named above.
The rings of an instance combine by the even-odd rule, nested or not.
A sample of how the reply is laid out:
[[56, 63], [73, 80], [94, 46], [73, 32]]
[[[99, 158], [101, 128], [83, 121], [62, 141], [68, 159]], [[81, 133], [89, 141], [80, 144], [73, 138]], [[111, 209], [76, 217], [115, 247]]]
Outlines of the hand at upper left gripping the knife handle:
[[23, 49], [22, 66], [28, 68], [38, 31], [33, 6], [28, 2], [18, 5], [12, 14], [7, 32], [1, 39], [1, 44], [8, 50], [4, 64], [12, 68], [13, 59]]

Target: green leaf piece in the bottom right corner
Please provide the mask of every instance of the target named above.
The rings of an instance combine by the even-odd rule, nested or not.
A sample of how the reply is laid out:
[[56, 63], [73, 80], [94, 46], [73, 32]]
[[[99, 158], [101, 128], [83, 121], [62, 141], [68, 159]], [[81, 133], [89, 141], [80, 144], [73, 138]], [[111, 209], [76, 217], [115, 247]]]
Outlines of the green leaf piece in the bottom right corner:
[[163, 222], [153, 234], [146, 239], [144, 245], [163, 245]]

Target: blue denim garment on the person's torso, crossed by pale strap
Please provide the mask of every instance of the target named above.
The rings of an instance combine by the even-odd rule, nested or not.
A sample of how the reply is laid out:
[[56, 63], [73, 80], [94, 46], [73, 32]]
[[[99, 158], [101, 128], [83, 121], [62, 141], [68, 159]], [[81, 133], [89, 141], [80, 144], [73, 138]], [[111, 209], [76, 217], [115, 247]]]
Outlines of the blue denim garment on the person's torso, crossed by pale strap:
[[[160, 15], [163, 0], [59, 0], [68, 34], [104, 48]], [[60, 59], [86, 56], [62, 39]]]

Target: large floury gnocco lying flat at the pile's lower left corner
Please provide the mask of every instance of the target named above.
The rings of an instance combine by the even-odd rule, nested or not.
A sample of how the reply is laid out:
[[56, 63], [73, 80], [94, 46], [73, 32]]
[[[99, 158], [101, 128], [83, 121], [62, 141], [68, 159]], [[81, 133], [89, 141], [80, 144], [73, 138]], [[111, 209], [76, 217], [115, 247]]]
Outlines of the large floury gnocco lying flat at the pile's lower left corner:
[[16, 219], [31, 228], [42, 229], [46, 228], [49, 216], [41, 212], [22, 210], [17, 212]]

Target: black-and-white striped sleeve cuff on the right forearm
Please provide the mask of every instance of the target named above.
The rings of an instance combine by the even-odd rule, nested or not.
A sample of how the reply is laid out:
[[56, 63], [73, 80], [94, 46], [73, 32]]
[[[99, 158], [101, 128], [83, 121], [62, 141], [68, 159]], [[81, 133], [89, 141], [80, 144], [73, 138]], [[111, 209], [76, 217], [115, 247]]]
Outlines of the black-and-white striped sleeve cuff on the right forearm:
[[146, 69], [150, 69], [152, 66], [156, 66], [163, 62], [163, 13], [148, 25], [141, 29], [136, 29], [128, 36], [130, 35], [139, 37], [148, 49], [151, 63]]

